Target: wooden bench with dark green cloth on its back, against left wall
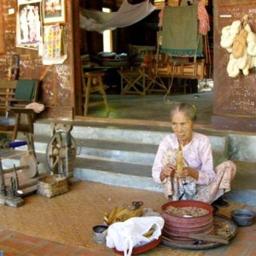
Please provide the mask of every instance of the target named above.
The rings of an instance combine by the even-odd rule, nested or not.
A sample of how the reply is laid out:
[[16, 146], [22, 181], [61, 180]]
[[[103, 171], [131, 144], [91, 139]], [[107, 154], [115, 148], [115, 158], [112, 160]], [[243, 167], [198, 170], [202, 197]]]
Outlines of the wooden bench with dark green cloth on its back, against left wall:
[[12, 141], [18, 131], [33, 134], [34, 111], [25, 107], [37, 102], [38, 87], [38, 80], [0, 79], [0, 133], [12, 134]]

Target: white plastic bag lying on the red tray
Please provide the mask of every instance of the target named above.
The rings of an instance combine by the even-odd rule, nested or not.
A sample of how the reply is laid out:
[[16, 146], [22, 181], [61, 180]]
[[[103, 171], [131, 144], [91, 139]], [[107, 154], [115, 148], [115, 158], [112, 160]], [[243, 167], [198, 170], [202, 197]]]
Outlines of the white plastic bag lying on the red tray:
[[[133, 247], [158, 239], [164, 224], [164, 219], [156, 216], [134, 217], [111, 224], [108, 227], [107, 247], [115, 247], [118, 251], [123, 251], [125, 256], [130, 256]], [[151, 228], [154, 229], [152, 236], [143, 236]]]

